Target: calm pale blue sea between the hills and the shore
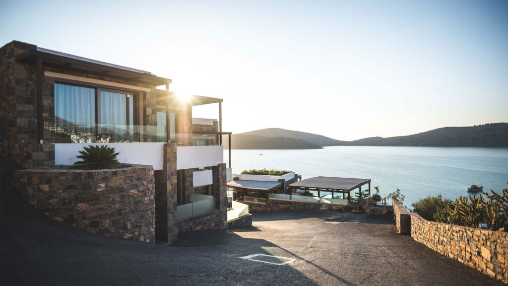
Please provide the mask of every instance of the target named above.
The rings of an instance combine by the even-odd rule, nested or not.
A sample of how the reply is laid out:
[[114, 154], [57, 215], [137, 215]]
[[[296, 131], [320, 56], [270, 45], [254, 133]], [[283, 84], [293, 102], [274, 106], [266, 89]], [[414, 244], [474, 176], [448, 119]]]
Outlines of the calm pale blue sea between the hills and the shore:
[[[316, 176], [371, 179], [382, 196], [399, 188], [410, 206], [441, 194], [454, 200], [480, 184], [498, 193], [507, 187], [508, 148], [336, 146], [315, 150], [232, 150], [233, 173], [244, 169], [292, 170]], [[228, 151], [224, 158], [228, 160]], [[260, 155], [263, 154], [263, 155]], [[366, 188], [366, 187], [365, 187]]]

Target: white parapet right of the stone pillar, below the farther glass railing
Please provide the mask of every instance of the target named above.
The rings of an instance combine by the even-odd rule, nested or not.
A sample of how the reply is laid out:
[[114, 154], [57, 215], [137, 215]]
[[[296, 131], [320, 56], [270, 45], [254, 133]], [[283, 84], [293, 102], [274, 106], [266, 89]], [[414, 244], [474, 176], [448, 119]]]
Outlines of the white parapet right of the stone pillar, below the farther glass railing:
[[216, 166], [224, 162], [223, 146], [179, 146], [176, 148], [176, 169]]

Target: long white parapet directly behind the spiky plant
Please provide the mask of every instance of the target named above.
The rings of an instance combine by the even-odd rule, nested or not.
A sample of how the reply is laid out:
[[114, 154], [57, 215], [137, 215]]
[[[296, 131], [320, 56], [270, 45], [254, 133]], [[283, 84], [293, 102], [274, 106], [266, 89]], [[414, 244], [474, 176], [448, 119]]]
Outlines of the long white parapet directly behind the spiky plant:
[[80, 159], [83, 147], [103, 146], [115, 148], [121, 163], [152, 165], [154, 170], [162, 170], [164, 164], [164, 142], [149, 143], [57, 143], [55, 144], [55, 164], [72, 165]]

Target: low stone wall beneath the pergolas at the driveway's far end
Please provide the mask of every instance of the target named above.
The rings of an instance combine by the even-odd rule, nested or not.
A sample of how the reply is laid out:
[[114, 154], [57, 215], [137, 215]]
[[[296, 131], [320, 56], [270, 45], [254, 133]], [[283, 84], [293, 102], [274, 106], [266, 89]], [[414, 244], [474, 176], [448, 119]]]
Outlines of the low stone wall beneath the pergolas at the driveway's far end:
[[294, 210], [341, 210], [341, 205], [305, 203], [286, 199], [269, 198], [266, 204], [240, 202], [249, 206], [249, 212], [294, 211]]

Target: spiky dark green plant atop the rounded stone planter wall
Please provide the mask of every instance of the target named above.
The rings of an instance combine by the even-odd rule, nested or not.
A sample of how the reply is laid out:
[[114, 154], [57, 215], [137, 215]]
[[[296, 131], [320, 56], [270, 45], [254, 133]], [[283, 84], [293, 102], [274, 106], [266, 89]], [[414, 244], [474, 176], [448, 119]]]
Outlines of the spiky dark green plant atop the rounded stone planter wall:
[[81, 161], [75, 162], [75, 165], [82, 165], [90, 169], [107, 169], [118, 164], [116, 159], [118, 153], [115, 153], [115, 149], [112, 147], [106, 145], [88, 146], [83, 149], [84, 151], [79, 151], [81, 155], [76, 156]]

